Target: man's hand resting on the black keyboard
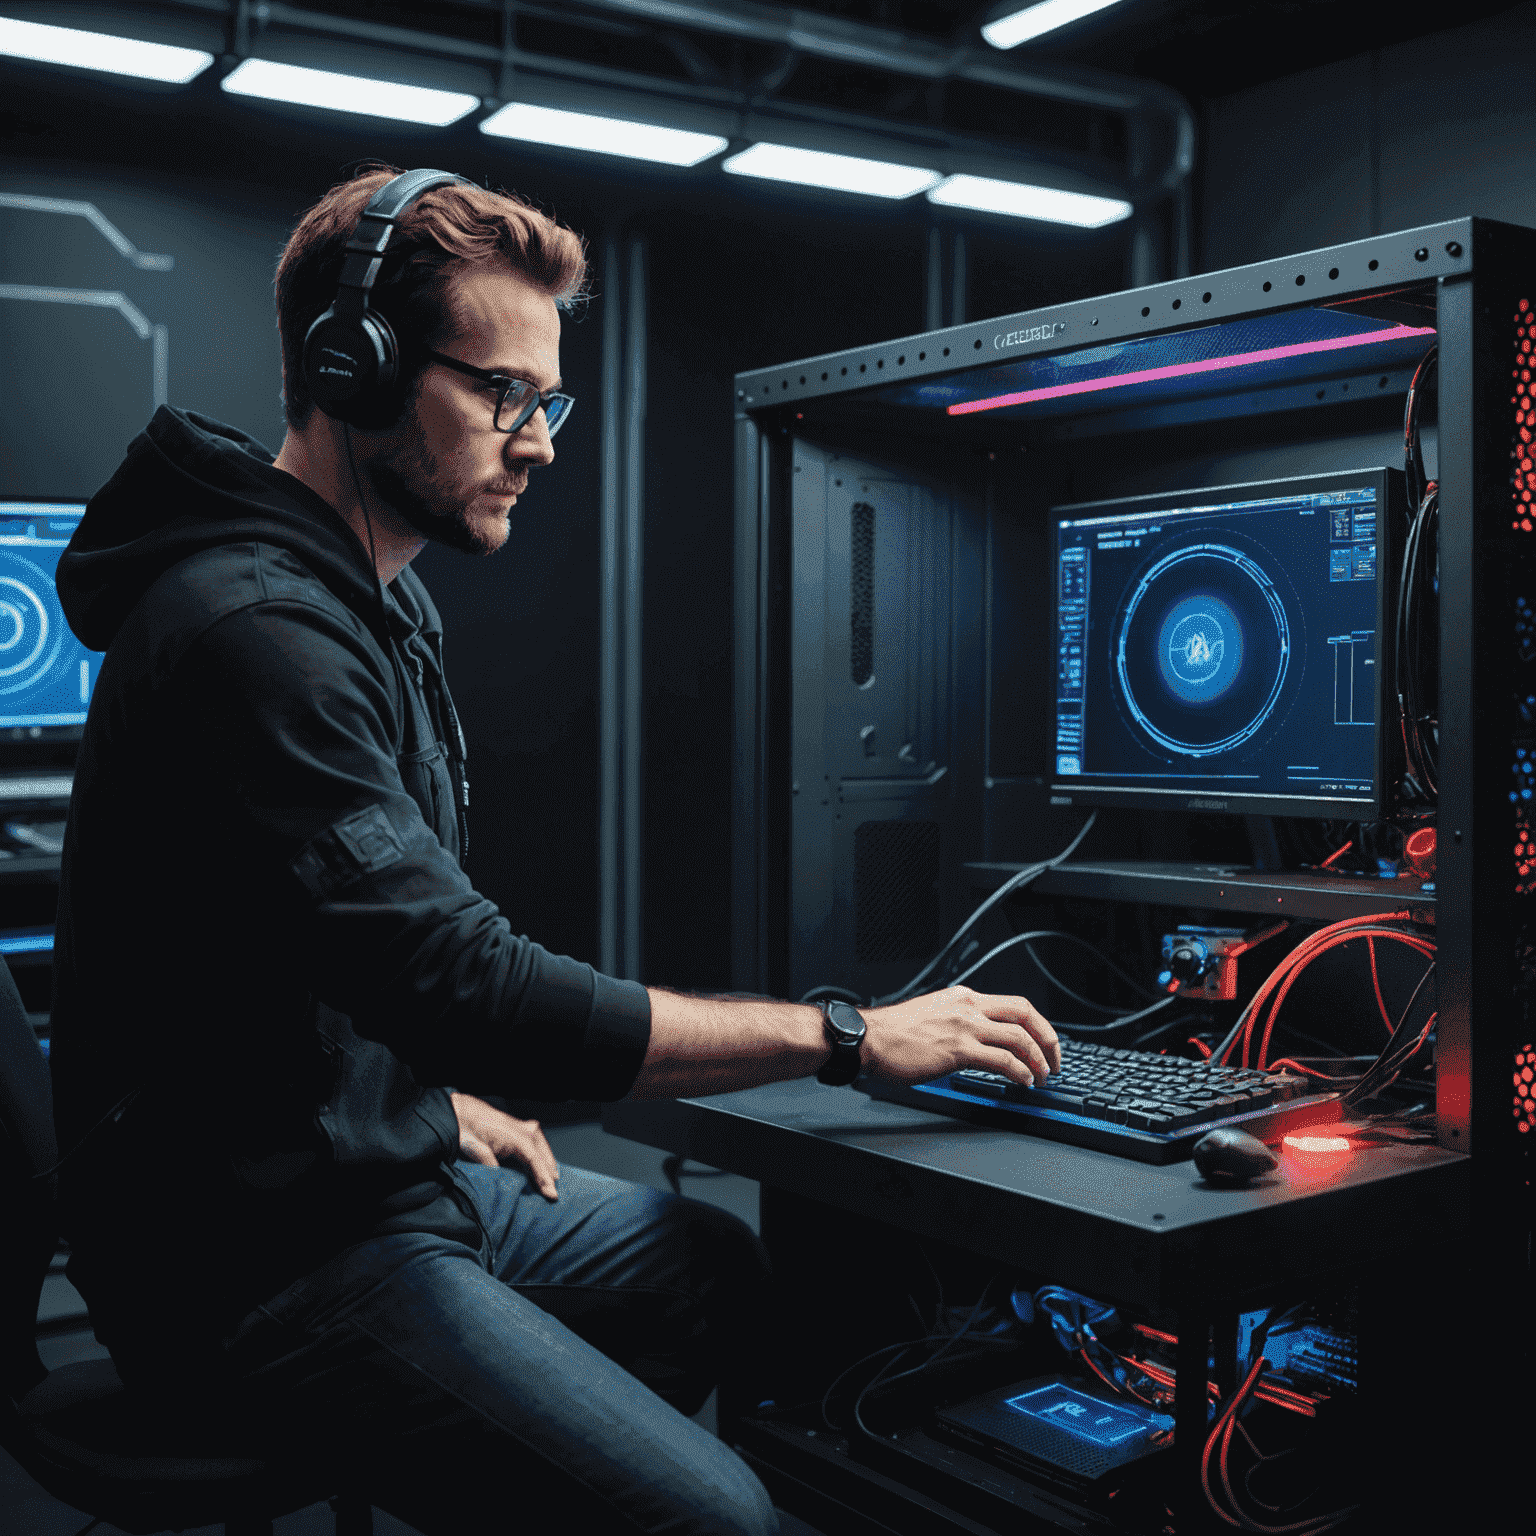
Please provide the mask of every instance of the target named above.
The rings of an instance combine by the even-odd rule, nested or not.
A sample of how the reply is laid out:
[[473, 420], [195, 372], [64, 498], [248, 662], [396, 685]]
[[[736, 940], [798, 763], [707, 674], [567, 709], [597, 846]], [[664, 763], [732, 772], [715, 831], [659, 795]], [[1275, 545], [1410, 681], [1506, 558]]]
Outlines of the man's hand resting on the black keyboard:
[[897, 1083], [926, 1083], [962, 1068], [1001, 1072], [1026, 1087], [1061, 1071], [1057, 1032], [1023, 997], [951, 986], [889, 1008], [862, 1008], [863, 1064]]

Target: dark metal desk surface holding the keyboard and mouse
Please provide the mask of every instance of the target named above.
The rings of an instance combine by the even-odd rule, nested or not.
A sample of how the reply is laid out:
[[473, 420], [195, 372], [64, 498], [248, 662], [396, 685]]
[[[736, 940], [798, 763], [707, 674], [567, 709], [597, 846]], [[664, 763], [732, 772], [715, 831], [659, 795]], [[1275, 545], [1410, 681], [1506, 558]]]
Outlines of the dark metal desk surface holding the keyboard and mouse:
[[992, 1130], [814, 1080], [605, 1104], [604, 1127], [1117, 1301], [1174, 1309], [1455, 1243], [1470, 1160], [1379, 1146], [1286, 1154], [1247, 1189]]

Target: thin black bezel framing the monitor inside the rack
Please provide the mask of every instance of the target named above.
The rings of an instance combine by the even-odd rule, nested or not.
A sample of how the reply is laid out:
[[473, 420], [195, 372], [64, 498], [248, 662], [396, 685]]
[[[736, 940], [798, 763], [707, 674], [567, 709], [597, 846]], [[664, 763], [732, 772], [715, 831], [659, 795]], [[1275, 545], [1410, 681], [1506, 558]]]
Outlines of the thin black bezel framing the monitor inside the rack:
[[[1344, 820], [1379, 822], [1393, 809], [1396, 774], [1401, 751], [1395, 751], [1396, 731], [1389, 719], [1387, 679], [1396, 668], [1396, 551], [1395, 530], [1405, 501], [1401, 470], [1385, 465], [1367, 465], [1353, 470], [1329, 470], [1321, 475], [1287, 475], [1281, 479], [1243, 481], [1232, 485], [1195, 485], [1175, 492], [1154, 492], [1144, 496], [1115, 496], [1104, 501], [1063, 502], [1052, 507], [1051, 518], [1051, 645], [1055, 653], [1060, 634], [1061, 605], [1061, 522], [1075, 518], [1112, 516], [1124, 511], [1127, 516], [1178, 510], [1192, 498], [1200, 501], [1260, 501], [1272, 496], [1292, 496], [1319, 490], [1344, 488], [1373, 482], [1376, 487], [1376, 733], [1372, 762], [1372, 793], [1361, 796], [1275, 796], [1275, 794], [1226, 794], [1210, 790], [1149, 790], [1138, 785], [1084, 785], [1080, 779], [1055, 773], [1055, 730], [1060, 696], [1052, 693], [1051, 710], [1051, 770], [1048, 783], [1052, 805], [1106, 805], [1129, 809], [1163, 809], [1181, 814], [1217, 816], [1283, 816], [1298, 820]], [[1052, 668], [1054, 670], [1054, 668]]]

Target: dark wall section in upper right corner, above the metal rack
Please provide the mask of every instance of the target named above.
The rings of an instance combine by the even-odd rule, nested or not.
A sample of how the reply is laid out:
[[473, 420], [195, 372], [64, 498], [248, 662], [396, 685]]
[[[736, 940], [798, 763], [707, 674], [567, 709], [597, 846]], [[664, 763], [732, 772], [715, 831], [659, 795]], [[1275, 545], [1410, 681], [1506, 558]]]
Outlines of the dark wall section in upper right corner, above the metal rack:
[[1536, 224], [1536, 5], [1207, 103], [1207, 272], [1467, 214]]

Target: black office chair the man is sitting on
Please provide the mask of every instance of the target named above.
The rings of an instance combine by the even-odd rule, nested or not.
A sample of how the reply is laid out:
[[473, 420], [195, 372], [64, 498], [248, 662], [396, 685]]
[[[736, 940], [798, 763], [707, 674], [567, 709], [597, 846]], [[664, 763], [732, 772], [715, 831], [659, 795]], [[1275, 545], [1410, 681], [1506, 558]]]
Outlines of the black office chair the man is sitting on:
[[[0, 1445], [55, 1499], [91, 1522], [151, 1536], [223, 1522], [226, 1536], [270, 1536], [272, 1521], [336, 1490], [323, 1471], [286, 1461], [238, 1432], [172, 1422], [129, 1395], [109, 1359], [48, 1370], [37, 1353], [37, 1303], [58, 1240], [48, 1060], [9, 966], [0, 965]], [[372, 1536], [373, 1511], [332, 1498], [336, 1536]], [[91, 1527], [88, 1525], [86, 1530]], [[83, 1536], [83, 1533], [81, 1533]]]

